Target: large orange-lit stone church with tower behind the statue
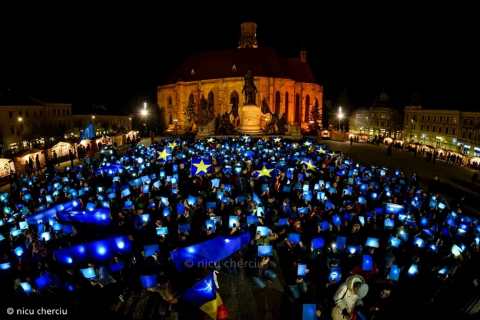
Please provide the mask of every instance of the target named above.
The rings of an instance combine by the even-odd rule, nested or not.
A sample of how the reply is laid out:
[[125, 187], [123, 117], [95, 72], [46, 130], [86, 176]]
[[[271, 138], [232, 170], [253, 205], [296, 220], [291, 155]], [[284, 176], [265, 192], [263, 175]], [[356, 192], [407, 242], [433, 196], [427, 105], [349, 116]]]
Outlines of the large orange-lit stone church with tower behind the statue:
[[[157, 102], [159, 107], [165, 107], [169, 130], [176, 127], [180, 131], [189, 99], [195, 102], [197, 114], [202, 114], [198, 110], [202, 96], [213, 103], [215, 114], [230, 112], [232, 107], [241, 108], [248, 71], [252, 72], [258, 89], [257, 106], [268, 106], [278, 115], [285, 113], [289, 123], [303, 129], [309, 125], [315, 99], [322, 112], [323, 88], [307, 63], [307, 52], [300, 51], [300, 58], [280, 58], [274, 49], [258, 46], [255, 23], [243, 23], [237, 49], [194, 53], [164, 85], [158, 86]], [[261, 120], [265, 122], [269, 113], [266, 108], [262, 110]], [[178, 119], [177, 126], [174, 119]], [[239, 125], [239, 119], [231, 121]]]

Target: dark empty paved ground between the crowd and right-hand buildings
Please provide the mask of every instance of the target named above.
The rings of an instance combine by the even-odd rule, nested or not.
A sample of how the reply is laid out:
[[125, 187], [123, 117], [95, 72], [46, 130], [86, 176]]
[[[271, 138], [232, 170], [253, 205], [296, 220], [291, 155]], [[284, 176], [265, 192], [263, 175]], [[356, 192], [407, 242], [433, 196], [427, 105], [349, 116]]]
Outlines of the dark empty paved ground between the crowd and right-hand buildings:
[[329, 149], [340, 150], [344, 156], [355, 159], [361, 164], [376, 164], [391, 170], [400, 169], [405, 177], [411, 177], [413, 172], [420, 175], [420, 187], [427, 190], [428, 184], [434, 175], [438, 175], [442, 182], [442, 190], [447, 198], [457, 197], [461, 194], [466, 195], [466, 203], [469, 210], [479, 211], [480, 184], [473, 186], [470, 184], [473, 169], [459, 167], [453, 164], [446, 164], [445, 161], [438, 161], [435, 164], [425, 162], [425, 157], [409, 151], [392, 150], [392, 157], [387, 157], [387, 147], [385, 145], [371, 145], [369, 143], [341, 142], [333, 140], [322, 140]]

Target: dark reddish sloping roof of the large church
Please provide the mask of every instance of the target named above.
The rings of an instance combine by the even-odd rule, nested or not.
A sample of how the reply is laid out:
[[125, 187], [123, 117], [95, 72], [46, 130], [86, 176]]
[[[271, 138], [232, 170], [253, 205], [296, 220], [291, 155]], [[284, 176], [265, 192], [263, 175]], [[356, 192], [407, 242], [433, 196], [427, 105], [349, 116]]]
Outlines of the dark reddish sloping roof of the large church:
[[301, 62], [300, 58], [279, 58], [272, 48], [244, 48], [193, 53], [167, 78], [164, 85], [178, 81], [243, 77], [249, 70], [254, 77], [283, 77], [317, 84], [309, 64]]

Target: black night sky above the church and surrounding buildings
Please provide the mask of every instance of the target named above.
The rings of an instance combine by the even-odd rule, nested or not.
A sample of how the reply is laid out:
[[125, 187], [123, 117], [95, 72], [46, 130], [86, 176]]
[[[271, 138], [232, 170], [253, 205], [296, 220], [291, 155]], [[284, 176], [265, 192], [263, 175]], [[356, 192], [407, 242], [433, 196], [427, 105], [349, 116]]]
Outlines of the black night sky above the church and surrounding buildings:
[[260, 47], [299, 57], [304, 45], [334, 106], [344, 90], [355, 108], [370, 106], [385, 89], [392, 106], [403, 110], [420, 84], [424, 108], [475, 110], [475, 28], [448, 10], [457, 21], [428, 10], [360, 15], [339, 8], [310, 17], [292, 12], [288, 19], [265, 18], [272, 13], [226, 19], [212, 11], [194, 17], [170, 11], [175, 18], [167, 19], [161, 10], [134, 18], [32, 14], [26, 28], [2, 40], [8, 50], [0, 89], [77, 108], [103, 104], [135, 112], [143, 101], [155, 103], [156, 85], [191, 53], [236, 48], [240, 24], [252, 21]]

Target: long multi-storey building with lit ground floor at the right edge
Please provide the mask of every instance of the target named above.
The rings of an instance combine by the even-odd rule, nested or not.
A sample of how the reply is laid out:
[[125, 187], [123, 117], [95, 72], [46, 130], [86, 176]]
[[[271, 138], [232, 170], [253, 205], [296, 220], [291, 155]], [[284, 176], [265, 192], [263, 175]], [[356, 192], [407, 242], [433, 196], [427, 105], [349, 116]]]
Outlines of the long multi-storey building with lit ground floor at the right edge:
[[480, 157], [480, 112], [405, 108], [405, 140]]

